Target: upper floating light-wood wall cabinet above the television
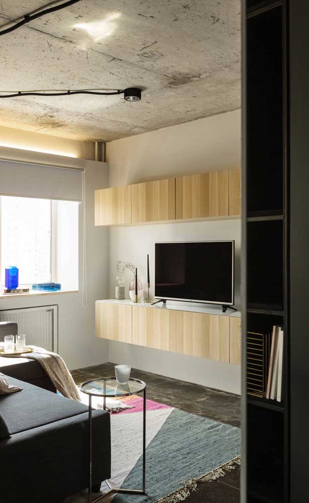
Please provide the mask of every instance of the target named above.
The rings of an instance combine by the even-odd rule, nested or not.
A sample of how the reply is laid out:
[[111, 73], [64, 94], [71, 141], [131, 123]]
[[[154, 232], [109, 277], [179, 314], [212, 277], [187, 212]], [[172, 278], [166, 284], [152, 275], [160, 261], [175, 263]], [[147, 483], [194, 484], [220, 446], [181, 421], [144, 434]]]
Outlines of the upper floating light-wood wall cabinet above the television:
[[95, 192], [95, 225], [240, 216], [240, 169], [168, 178]]

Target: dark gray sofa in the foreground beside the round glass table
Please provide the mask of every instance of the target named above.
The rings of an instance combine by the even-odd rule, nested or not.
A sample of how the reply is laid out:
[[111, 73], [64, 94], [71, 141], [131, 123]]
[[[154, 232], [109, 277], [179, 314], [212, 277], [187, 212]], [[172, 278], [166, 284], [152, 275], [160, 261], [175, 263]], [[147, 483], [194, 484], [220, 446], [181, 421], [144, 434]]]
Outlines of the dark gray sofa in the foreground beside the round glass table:
[[[19, 365], [12, 367], [21, 377]], [[23, 391], [0, 395], [11, 433], [0, 440], [1, 500], [58, 503], [86, 489], [88, 407], [24, 380], [8, 380]], [[95, 410], [92, 417], [92, 488], [97, 491], [111, 477], [110, 414]]]

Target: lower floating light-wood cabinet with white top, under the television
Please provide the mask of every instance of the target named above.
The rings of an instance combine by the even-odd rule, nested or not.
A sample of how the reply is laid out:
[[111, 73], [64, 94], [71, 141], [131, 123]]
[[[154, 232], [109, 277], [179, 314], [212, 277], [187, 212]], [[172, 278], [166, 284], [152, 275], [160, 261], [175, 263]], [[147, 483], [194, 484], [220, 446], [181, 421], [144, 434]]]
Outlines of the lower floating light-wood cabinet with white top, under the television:
[[240, 313], [219, 307], [134, 305], [130, 300], [95, 303], [96, 337], [181, 355], [240, 365]]

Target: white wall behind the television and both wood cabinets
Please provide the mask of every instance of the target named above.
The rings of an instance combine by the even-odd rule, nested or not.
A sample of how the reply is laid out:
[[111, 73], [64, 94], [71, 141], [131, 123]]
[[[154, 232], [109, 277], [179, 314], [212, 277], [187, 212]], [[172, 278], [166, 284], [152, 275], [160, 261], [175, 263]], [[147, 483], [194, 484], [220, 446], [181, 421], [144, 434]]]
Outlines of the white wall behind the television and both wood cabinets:
[[[116, 140], [107, 145], [110, 186], [223, 170], [241, 165], [240, 111]], [[113, 227], [110, 234], [110, 297], [114, 297], [116, 261], [133, 262], [144, 280], [147, 254], [152, 264], [155, 241], [235, 239], [235, 304], [240, 306], [240, 220]], [[131, 275], [126, 274], [126, 288]], [[151, 294], [153, 292], [151, 291]], [[128, 293], [127, 293], [128, 295]], [[141, 370], [240, 392], [240, 367], [179, 356], [117, 342], [110, 343], [110, 361]]]

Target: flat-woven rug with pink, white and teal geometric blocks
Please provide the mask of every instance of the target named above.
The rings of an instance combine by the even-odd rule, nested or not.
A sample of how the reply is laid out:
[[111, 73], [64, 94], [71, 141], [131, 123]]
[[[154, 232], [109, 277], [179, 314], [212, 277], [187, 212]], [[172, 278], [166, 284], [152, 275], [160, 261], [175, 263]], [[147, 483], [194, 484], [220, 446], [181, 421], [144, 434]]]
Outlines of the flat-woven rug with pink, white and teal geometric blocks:
[[[133, 396], [126, 401], [134, 408], [111, 414], [111, 483], [141, 488], [143, 399]], [[147, 400], [146, 429], [147, 495], [116, 494], [114, 503], [182, 501], [197, 481], [214, 480], [239, 464], [239, 428]], [[106, 484], [101, 491], [106, 491]], [[83, 493], [66, 503], [85, 501]]]

